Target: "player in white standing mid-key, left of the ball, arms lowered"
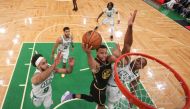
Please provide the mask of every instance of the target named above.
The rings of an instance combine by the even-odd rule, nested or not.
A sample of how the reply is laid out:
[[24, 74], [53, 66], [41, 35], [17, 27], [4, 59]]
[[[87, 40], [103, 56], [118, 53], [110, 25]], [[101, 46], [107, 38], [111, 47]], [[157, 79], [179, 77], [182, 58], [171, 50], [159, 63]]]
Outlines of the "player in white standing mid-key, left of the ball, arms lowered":
[[[63, 55], [63, 68], [66, 68], [67, 59], [69, 57], [70, 46], [72, 46], [73, 50], [74, 45], [73, 45], [73, 37], [70, 35], [70, 28], [64, 27], [63, 32], [64, 35], [58, 37], [56, 43], [54, 44], [54, 47], [52, 49], [51, 59], [53, 60], [55, 50], [57, 49], [57, 52], [61, 52]], [[64, 77], [64, 74], [62, 74], [62, 77]]]

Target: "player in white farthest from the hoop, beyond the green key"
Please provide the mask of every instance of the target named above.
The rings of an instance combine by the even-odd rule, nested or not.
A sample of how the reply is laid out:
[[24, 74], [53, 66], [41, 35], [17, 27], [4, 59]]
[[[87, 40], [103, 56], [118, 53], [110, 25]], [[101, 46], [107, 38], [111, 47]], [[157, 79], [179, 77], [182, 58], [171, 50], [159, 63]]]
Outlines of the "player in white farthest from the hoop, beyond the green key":
[[119, 12], [117, 11], [116, 8], [114, 8], [114, 4], [112, 2], [109, 2], [107, 4], [107, 8], [103, 10], [102, 13], [97, 18], [98, 19], [103, 15], [106, 14], [106, 18], [102, 21], [102, 24], [109, 24], [111, 26], [111, 35], [110, 39], [113, 40], [113, 34], [114, 34], [114, 14], [118, 15], [118, 24], [120, 23], [120, 17], [119, 17]]

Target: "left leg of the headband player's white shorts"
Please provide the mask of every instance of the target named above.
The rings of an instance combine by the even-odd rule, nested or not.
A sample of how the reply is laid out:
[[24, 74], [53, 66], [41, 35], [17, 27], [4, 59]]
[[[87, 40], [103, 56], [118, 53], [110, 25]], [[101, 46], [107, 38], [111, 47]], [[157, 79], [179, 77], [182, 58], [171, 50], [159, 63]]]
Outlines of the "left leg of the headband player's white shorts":
[[43, 103], [44, 101], [44, 98], [41, 98], [41, 97], [36, 97], [32, 94], [32, 92], [30, 93], [30, 98], [32, 99], [32, 102], [34, 104], [35, 107], [40, 107], [41, 104]]

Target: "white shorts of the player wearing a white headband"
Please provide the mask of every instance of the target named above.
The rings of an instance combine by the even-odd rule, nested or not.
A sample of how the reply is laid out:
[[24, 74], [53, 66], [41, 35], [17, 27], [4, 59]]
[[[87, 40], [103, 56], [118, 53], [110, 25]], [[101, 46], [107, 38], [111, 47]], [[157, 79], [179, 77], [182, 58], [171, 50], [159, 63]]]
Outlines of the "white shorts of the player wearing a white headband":
[[36, 97], [33, 95], [32, 91], [31, 91], [30, 98], [32, 99], [32, 102], [36, 107], [40, 107], [41, 104], [43, 103], [45, 109], [49, 109], [50, 106], [53, 104], [51, 93], [47, 94], [44, 97]]

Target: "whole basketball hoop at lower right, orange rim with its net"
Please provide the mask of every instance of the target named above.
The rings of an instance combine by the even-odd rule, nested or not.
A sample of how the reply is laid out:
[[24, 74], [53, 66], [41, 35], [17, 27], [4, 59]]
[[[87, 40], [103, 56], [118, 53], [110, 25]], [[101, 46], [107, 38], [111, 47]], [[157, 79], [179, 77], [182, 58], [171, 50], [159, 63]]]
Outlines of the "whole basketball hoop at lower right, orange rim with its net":
[[[144, 84], [147, 94], [143, 95], [143, 93], [138, 92], [137, 90], [135, 91], [136, 93], [140, 93], [139, 95], [141, 95], [141, 97], [137, 94], [132, 94], [128, 85], [125, 84], [126, 80], [122, 80], [118, 75], [119, 63], [121, 60], [129, 57], [131, 61], [137, 57], [145, 58], [147, 60], [147, 66], [142, 72], [141, 70], [139, 71], [141, 77], [141, 83], [139, 82], [139, 84]], [[153, 72], [150, 73], [149, 69], [153, 70]], [[146, 74], [149, 74], [149, 76]], [[123, 54], [115, 61], [114, 77], [116, 84], [127, 100], [141, 109], [167, 108], [170, 106], [173, 106], [170, 108], [188, 109], [190, 107], [190, 90], [185, 81], [173, 68], [153, 56], [143, 53]], [[162, 84], [159, 84], [160, 82]], [[141, 98], [145, 96], [151, 98], [152, 103], [155, 104], [147, 103], [147, 98], [143, 101]], [[175, 107], [175, 105], [177, 106]]]

